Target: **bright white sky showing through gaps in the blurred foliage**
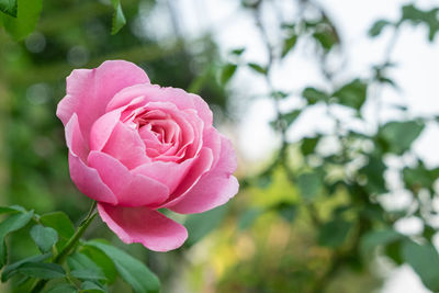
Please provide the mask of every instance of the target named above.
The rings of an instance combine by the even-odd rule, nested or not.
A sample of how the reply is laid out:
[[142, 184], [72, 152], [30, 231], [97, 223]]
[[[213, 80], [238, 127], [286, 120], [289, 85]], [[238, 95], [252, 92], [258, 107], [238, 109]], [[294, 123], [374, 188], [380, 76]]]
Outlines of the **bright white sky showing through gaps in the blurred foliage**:
[[[284, 0], [282, 11], [285, 15], [294, 15], [293, 1]], [[406, 0], [319, 0], [318, 2], [328, 11], [329, 16], [340, 30], [345, 44], [342, 49], [348, 56], [346, 80], [349, 77], [368, 76], [372, 64], [379, 64], [383, 58], [384, 48], [391, 36], [389, 31], [371, 40], [367, 31], [379, 19], [396, 20], [399, 8], [412, 1]], [[160, 3], [160, 2], [159, 2]], [[438, 5], [435, 0], [418, 0], [417, 5], [429, 8]], [[238, 0], [175, 0], [177, 11], [181, 16], [180, 26], [184, 34], [196, 36], [203, 32], [214, 32], [223, 54], [237, 47], [246, 47], [246, 60], [263, 63], [267, 58], [260, 36], [255, 27], [254, 20], [246, 11], [239, 9]], [[165, 2], [161, 2], [165, 9]], [[160, 7], [158, 8], [160, 10]], [[162, 13], [157, 12], [162, 16]], [[151, 20], [150, 18], [148, 19]], [[270, 18], [267, 18], [270, 23]], [[159, 22], [162, 24], [162, 22]], [[170, 27], [148, 23], [146, 27], [160, 35]], [[146, 29], [148, 30], [148, 29]], [[275, 32], [274, 32], [275, 33]], [[324, 84], [318, 74], [318, 67], [308, 53], [309, 47], [304, 43], [297, 44], [297, 49], [286, 57], [284, 66], [277, 68], [272, 79], [277, 89], [286, 91], [299, 90], [309, 84]], [[401, 87], [401, 92], [391, 89], [383, 90], [384, 103], [405, 104], [410, 116], [439, 115], [439, 37], [434, 44], [427, 41], [425, 26], [405, 25], [396, 47], [393, 60], [398, 64], [392, 77]], [[250, 70], [241, 69], [232, 82], [237, 93], [235, 102], [243, 108], [241, 123], [237, 134], [237, 147], [244, 158], [249, 161], [261, 161], [272, 154], [278, 147], [275, 134], [268, 125], [274, 117], [272, 101], [255, 99], [251, 95], [266, 93], [263, 80]], [[294, 102], [285, 102], [284, 108], [294, 106]], [[374, 115], [371, 109], [365, 109], [364, 114]], [[291, 140], [297, 140], [315, 131], [328, 131], [331, 125], [322, 119], [323, 109], [315, 109], [306, 115], [301, 115], [297, 125], [289, 132]], [[397, 117], [393, 111], [384, 111], [382, 120]], [[439, 127], [429, 125], [423, 136], [415, 143], [415, 151], [428, 166], [439, 165]], [[384, 293], [424, 293], [428, 292], [420, 283], [418, 277], [407, 266], [392, 270], [387, 275], [381, 292]]]

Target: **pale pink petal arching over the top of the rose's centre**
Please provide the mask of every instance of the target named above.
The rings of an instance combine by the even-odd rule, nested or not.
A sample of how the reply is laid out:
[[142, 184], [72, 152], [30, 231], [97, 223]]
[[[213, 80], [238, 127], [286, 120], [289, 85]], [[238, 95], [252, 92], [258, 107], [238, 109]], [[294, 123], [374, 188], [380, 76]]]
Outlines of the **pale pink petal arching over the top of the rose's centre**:
[[199, 95], [188, 93], [182, 89], [160, 88], [155, 84], [136, 84], [122, 90], [110, 101], [106, 110], [112, 111], [126, 105], [137, 97], [145, 97], [145, 102], [170, 102], [180, 110], [196, 110], [204, 125], [212, 125], [212, 111], [209, 109], [207, 103]]

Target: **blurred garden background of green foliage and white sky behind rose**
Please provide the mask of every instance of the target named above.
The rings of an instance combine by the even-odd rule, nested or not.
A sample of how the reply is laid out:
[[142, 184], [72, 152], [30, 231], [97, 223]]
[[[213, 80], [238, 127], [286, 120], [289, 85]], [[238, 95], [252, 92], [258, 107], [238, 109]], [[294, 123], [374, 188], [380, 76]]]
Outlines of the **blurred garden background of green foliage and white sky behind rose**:
[[[90, 201], [56, 105], [72, 69], [125, 59], [209, 102], [240, 192], [179, 218], [176, 251], [125, 246], [100, 221], [86, 236], [142, 259], [162, 292], [439, 291], [438, 1], [121, 4], [114, 35], [104, 0], [44, 0], [29, 35], [0, 18], [1, 205], [79, 223]], [[37, 251], [26, 230], [9, 241], [12, 259]]]

